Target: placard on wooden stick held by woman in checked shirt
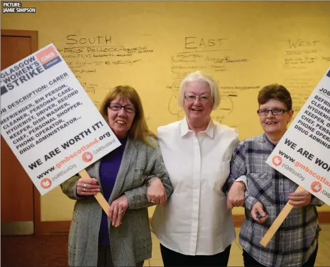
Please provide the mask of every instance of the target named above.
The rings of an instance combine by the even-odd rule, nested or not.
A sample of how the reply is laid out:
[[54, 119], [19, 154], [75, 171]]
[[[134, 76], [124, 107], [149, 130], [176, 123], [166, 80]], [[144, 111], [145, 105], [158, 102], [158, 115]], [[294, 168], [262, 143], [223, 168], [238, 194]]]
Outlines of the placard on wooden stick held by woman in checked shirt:
[[[330, 205], [330, 68], [285, 132], [266, 163]], [[279, 229], [292, 205], [287, 203], [261, 240]]]

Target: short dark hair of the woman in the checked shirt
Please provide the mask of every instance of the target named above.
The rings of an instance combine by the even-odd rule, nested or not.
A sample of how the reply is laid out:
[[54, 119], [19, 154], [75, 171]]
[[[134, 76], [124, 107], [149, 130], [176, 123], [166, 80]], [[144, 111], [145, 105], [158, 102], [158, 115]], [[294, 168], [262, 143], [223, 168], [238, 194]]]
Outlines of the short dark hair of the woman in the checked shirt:
[[276, 99], [283, 102], [288, 110], [292, 110], [292, 98], [290, 92], [281, 84], [270, 84], [264, 86], [258, 94], [259, 106], [270, 99]]

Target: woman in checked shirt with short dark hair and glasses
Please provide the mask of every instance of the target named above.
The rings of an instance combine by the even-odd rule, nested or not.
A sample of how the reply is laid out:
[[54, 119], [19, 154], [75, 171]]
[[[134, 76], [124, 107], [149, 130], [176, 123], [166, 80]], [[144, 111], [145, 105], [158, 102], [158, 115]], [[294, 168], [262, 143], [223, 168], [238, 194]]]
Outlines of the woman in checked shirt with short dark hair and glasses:
[[[290, 92], [271, 84], [258, 94], [259, 121], [263, 133], [241, 142], [233, 155], [228, 183], [246, 175], [246, 218], [239, 243], [244, 266], [314, 266], [318, 251], [318, 212], [324, 203], [266, 164], [287, 130], [294, 111]], [[294, 209], [266, 247], [260, 243], [275, 218], [289, 201]]]

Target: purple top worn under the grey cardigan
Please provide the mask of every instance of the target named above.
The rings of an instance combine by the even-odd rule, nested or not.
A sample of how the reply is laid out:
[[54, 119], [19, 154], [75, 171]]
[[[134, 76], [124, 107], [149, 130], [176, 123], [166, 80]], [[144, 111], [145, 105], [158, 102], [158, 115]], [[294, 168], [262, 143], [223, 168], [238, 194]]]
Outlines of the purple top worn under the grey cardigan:
[[[102, 157], [101, 164], [99, 166], [99, 180], [101, 181], [102, 192], [106, 201], [109, 200], [111, 192], [113, 192], [113, 186], [115, 186], [121, 159], [123, 158], [123, 151], [126, 147], [126, 140], [126, 138], [119, 139], [121, 146], [108, 153], [108, 155]], [[99, 244], [110, 245], [108, 216], [103, 209], [101, 225], [99, 227]]]

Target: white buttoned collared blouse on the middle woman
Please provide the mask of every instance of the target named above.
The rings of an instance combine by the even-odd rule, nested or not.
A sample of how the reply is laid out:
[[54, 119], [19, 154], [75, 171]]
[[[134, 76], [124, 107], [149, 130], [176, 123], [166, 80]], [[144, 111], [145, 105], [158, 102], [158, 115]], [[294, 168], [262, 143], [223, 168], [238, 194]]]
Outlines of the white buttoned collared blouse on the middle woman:
[[186, 118], [158, 127], [169, 179], [174, 186], [166, 205], [157, 205], [152, 231], [172, 251], [215, 255], [235, 240], [231, 210], [222, 186], [230, 171], [237, 130], [210, 120], [196, 135]]

